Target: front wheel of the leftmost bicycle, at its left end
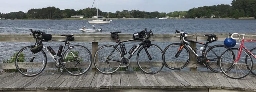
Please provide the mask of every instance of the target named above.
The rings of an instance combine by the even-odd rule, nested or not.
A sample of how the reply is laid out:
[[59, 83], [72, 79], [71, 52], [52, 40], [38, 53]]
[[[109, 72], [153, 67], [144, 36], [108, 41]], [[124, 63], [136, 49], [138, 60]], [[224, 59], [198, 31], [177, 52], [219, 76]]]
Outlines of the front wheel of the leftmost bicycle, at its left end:
[[31, 48], [32, 46], [26, 46], [19, 50], [17, 54], [15, 53], [16, 68], [20, 74], [27, 77], [33, 77], [43, 72], [47, 63], [47, 57], [43, 49], [33, 54], [30, 51]]

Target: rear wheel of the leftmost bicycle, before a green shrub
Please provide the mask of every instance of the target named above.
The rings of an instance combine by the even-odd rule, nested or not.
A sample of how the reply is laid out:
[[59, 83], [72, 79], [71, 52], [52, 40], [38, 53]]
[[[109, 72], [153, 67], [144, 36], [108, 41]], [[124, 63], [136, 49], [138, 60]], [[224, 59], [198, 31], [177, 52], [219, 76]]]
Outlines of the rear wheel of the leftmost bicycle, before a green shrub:
[[86, 73], [92, 63], [90, 50], [84, 46], [71, 46], [62, 55], [62, 63], [65, 71], [74, 76]]

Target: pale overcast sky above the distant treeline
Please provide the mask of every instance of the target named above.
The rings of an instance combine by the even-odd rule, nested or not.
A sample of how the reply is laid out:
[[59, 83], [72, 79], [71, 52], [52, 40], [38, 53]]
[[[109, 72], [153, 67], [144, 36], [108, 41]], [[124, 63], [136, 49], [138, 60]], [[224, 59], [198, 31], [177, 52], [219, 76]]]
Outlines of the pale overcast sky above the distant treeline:
[[[173, 12], [188, 11], [200, 6], [229, 4], [232, 0], [99, 0], [99, 9], [103, 12], [139, 10], [147, 12]], [[54, 6], [60, 10], [84, 9], [92, 6], [93, 0], [0, 0], [0, 12], [27, 12], [32, 8], [45, 8]], [[93, 7], [96, 7], [97, 0]]]

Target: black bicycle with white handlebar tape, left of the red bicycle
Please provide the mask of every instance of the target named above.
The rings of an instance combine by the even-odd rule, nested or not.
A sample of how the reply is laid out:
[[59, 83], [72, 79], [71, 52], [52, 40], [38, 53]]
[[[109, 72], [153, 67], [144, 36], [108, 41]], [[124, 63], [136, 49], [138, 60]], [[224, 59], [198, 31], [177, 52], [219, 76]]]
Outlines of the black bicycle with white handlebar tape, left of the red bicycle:
[[[203, 35], [207, 36], [208, 39], [206, 43], [196, 42], [192, 40], [187, 40], [187, 33], [180, 32], [178, 30], [175, 31], [175, 33], [180, 33], [180, 40], [182, 41], [180, 43], [173, 43], [165, 47], [164, 54], [166, 57], [165, 60], [165, 66], [172, 70], [180, 70], [186, 67], [190, 60], [190, 51], [195, 55], [197, 58], [197, 62], [199, 64], [203, 64], [204, 66], [209, 68], [211, 71], [215, 73], [221, 73], [221, 70], [219, 69], [219, 59], [225, 50], [228, 49], [228, 47], [224, 45], [214, 45], [209, 46], [209, 43], [212, 43], [214, 41], [217, 41], [217, 37], [215, 34], [209, 34], [209, 35]], [[188, 42], [194, 42], [201, 45], [204, 45], [204, 47], [200, 48], [201, 50], [201, 56], [197, 54], [197, 51], [195, 51], [195, 48], [192, 48]], [[185, 46], [186, 45], [186, 46]], [[206, 48], [209, 48], [206, 51]]]

